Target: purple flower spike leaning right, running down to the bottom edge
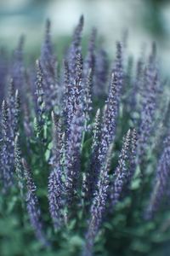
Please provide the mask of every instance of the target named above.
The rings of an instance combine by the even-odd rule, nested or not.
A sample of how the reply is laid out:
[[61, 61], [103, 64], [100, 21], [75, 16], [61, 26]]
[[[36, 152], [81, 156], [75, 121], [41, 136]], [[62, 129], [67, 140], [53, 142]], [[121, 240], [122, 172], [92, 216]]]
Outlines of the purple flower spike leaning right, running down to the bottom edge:
[[94, 240], [98, 235], [99, 227], [105, 215], [105, 206], [109, 190], [108, 172], [111, 166], [111, 148], [108, 150], [106, 161], [100, 169], [99, 181], [94, 194], [94, 200], [90, 209], [90, 219], [88, 223], [88, 232], [86, 234], [86, 243], [82, 255], [90, 256], [93, 254]]

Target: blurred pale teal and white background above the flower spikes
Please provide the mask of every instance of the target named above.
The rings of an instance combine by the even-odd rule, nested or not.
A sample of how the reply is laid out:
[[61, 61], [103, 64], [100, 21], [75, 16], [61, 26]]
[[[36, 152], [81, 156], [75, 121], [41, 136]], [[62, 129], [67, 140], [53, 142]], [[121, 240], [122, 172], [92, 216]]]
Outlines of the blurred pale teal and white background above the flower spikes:
[[[163, 70], [170, 67], [170, 1], [165, 0], [0, 0], [0, 44], [14, 49], [26, 35], [26, 52], [39, 54], [47, 18], [52, 21], [56, 48], [65, 49], [80, 15], [84, 15], [84, 36], [98, 28], [110, 55], [115, 41], [129, 34], [129, 52], [139, 54], [156, 41]], [[124, 33], [125, 34], [125, 33]]]

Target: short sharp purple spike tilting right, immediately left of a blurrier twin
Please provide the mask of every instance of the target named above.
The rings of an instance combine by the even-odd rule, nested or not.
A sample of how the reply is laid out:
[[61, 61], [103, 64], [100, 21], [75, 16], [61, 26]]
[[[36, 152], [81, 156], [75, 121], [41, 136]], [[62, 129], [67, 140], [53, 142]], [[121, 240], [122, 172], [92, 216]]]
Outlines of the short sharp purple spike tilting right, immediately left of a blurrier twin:
[[116, 171], [113, 173], [111, 181], [111, 205], [114, 207], [119, 201], [120, 196], [122, 195], [122, 189], [124, 183], [127, 182], [128, 173], [127, 173], [127, 159], [128, 159], [128, 150], [130, 146], [131, 131], [127, 131], [127, 136], [124, 139], [122, 145], [122, 151], [119, 155], [118, 166]]

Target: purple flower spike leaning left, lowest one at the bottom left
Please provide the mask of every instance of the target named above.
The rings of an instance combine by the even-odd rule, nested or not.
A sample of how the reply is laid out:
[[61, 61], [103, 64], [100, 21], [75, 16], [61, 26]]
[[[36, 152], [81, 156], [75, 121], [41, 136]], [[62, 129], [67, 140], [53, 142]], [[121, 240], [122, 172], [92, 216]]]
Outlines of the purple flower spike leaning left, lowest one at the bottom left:
[[37, 239], [41, 241], [44, 246], [48, 246], [47, 238], [42, 230], [42, 214], [36, 195], [37, 187], [31, 177], [31, 170], [25, 159], [22, 159], [22, 165], [24, 168], [24, 175], [26, 177], [26, 209], [30, 218], [31, 226], [37, 236]]

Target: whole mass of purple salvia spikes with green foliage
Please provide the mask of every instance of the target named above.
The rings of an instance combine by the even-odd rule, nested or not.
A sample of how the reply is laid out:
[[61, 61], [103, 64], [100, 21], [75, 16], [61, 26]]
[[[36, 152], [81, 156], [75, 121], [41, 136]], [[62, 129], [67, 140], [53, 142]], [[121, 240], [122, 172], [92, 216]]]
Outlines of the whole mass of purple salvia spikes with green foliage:
[[156, 44], [111, 61], [83, 16], [58, 61], [46, 29], [0, 51], [0, 254], [168, 255], [170, 97]]

